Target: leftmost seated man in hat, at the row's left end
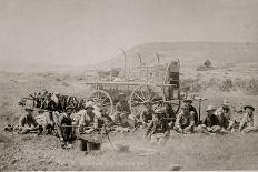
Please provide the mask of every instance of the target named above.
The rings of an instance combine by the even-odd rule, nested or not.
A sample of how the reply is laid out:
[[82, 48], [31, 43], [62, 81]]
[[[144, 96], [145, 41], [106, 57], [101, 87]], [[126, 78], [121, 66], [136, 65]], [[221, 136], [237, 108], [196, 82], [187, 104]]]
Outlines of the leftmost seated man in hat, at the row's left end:
[[26, 114], [22, 114], [19, 119], [19, 124], [18, 124], [18, 132], [21, 134], [27, 134], [31, 131], [37, 131], [39, 130], [39, 125], [33, 117], [33, 109], [26, 107]]

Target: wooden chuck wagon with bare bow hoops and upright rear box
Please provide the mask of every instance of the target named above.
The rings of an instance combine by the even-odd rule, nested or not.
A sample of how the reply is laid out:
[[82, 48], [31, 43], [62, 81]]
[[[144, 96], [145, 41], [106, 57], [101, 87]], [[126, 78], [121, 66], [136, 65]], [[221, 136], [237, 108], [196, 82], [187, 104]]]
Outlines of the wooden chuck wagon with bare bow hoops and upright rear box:
[[146, 64], [138, 53], [138, 67], [128, 70], [127, 57], [125, 55], [123, 79], [113, 79], [110, 71], [109, 79], [88, 81], [91, 85], [91, 92], [87, 98], [98, 107], [106, 107], [110, 115], [113, 114], [115, 104], [118, 102], [119, 94], [125, 94], [129, 103], [130, 111], [139, 115], [143, 110], [143, 103], [149, 101], [153, 109], [157, 109], [168, 102], [176, 112], [179, 111], [180, 99], [180, 62], [178, 59], [161, 63], [156, 53], [155, 64]]

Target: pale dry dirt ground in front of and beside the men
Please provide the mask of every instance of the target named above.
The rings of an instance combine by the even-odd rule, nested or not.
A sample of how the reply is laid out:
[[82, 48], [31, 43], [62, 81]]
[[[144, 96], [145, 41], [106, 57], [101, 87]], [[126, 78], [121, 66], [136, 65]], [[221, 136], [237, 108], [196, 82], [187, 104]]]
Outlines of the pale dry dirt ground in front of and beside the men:
[[[17, 105], [19, 98], [48, 89], [63, 94], [86, 97], [89, 88], [77, 78], [57, 73], [0, 73], [0, 128], [16, 123], [23, 112]], [[258, 109], [258, 98], [240, 92], [200, 93], [209, 100], [201, 112], [212, 103], [219, 107], [227, 98], [239, 107], [251, 103]], [[240, 118], [240, 117], [239, 117]], [[105, 139], [101, 151], [85, 154], [79, 142], [71, 150], [60, 149], [58, 139], [50, 135], [18, 135], [0, 133], [12, 139], [0, 143], [0, 170], [257, 170], [258, 133], [227, 135], [171, 134], [166, 145], [150, 144], [142, 133], [110, 135], [112, 144], [128, 145], [129, 152], [115, 152]]]

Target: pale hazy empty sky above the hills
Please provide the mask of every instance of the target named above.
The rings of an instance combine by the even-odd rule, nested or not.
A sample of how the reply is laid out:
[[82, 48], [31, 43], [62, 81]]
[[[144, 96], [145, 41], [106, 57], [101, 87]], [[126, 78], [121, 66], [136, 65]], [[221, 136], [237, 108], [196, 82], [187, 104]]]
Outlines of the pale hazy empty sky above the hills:
[[258, 0], [0, 0], [0, 62], [92, 64], [148, 42], [258, 42]]

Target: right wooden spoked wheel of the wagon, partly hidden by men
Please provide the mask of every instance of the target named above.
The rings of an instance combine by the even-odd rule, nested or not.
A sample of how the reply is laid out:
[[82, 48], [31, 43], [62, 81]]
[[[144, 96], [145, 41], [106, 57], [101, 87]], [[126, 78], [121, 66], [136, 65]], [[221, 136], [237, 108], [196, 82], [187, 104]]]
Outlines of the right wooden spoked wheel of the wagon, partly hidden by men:
[[150, 101], [152, 103], [152, 109], [156, 110], [160, 108], [165, 101], [165, 95], [161, 89], [153, 85], [140, 85], [137, 87], [130, 95], [130, 110], [135, 117], [140, 117], [145, 109], [143, 103]]

